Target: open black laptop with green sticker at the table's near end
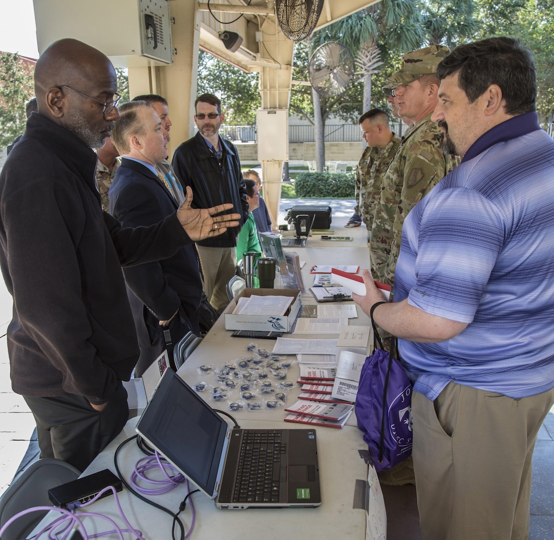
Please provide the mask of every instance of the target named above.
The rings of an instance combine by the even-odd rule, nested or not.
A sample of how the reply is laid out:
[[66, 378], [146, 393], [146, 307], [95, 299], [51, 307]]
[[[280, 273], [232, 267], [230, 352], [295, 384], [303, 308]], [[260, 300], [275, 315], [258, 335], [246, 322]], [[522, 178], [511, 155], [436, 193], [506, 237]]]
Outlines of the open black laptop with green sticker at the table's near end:
[[[217, 508], [321, 505], [314, 429], [231, 429], [171, 369], [163, 373], [136, 431]], [[255, 455], [245, 456], [248, 451]], [[264, 465], [263, 457], [269, 457]]]

